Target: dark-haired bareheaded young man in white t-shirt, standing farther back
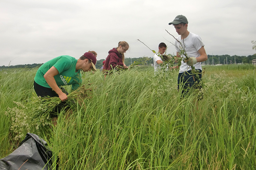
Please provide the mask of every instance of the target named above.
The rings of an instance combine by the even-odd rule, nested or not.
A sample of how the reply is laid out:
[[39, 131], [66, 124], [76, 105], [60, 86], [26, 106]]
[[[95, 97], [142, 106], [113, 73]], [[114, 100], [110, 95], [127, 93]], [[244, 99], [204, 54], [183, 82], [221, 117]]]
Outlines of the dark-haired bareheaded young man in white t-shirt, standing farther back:
[[[155, 71], [158, 71], [161, 68], [160, 64], [163, 64], [163, 61], [162, 61], [162, 58], [160, 57], [160, 55], [163, 55], [165, 53], [166, 48], [167, 48], [167, 46], [165, 43], [160, 43], [158, 45], [158, 54], [155, 54], [154, 58], [153, 58]], [[178, 68], [178, 67], [176, 67], [176, 66], [172, 67], [172, 69], [175, 69], [175, 68]], [[168, 68], [167, 68], [167, 70], [168, 70]]]

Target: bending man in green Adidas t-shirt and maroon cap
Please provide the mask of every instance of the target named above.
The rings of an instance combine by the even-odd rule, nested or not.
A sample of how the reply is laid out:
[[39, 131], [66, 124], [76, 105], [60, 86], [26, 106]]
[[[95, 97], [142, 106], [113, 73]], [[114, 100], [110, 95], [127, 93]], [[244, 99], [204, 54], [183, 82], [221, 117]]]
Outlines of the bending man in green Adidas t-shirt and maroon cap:
[[44, 63], [34, 78], [35, 92], [41, 97], [67, 100], [65, 89], [63, 92], [60, 86], [72, 85], [72, 90], [77, 89], [82, 83], [80, 70], [96, 71], [96, 61], [93, 53], [86, 52], [78, 60], [69, 55], [61, 55]]

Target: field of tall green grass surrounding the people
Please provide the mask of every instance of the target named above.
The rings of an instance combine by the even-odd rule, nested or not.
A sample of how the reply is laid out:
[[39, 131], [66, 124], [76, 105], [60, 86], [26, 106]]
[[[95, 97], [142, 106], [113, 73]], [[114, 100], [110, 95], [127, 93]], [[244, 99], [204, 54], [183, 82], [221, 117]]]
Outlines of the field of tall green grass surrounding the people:
[[[60, 170], [255, 169], [256, 68], [203, 68], [199, 101], [193, 93], [180, 98], [178, 71], [154, 75], [153, 67], [138, 67], [106, 78], [86, 72], [90, 98], [73, 103], [69, 118], [61, 111], [57, 126], [30, 131], [47, 141]], [[0, 71], [0, 158], [23, 139], [14, 139], [15, 122], [5, 112], [13, 101], [33, 107], [36, 71]]]

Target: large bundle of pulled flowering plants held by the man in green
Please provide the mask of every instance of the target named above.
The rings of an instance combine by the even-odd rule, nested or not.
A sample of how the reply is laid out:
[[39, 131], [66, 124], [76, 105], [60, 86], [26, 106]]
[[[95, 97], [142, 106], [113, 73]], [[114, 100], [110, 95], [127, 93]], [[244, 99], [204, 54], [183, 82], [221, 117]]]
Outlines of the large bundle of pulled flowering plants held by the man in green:
[[[77, 88], [68, 95], [68, 101], [81, 101], [91, 96], [92, 89], [85, 86]], [[41, 126], [51, 124], [50, 113], [61, 103], [58, 97], [31, 97], [26, 101], [15, 102], [16, 107], [8, 108], [5, 115], [11, 119], [11, 130], [16, 134], [15, 140], [23, 138], [26, 133], [36, 133]]]

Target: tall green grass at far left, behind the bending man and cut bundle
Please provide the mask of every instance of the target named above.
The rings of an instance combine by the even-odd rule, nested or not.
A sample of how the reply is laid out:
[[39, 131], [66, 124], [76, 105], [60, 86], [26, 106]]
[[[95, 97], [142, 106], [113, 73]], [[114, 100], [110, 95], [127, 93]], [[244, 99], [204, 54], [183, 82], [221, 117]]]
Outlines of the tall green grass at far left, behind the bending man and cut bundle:
[[8, 69], [0, 71], [0, 157], [17, 148], [18, 143], [12, 141], [14, 134], [10, 132], [11, 122], [4, 115], [7, 108], [16, 106], [13, 101], [24, 101], [33, 95], [33, 82], [37, 69]]

